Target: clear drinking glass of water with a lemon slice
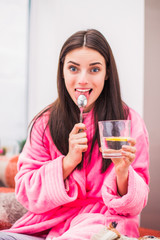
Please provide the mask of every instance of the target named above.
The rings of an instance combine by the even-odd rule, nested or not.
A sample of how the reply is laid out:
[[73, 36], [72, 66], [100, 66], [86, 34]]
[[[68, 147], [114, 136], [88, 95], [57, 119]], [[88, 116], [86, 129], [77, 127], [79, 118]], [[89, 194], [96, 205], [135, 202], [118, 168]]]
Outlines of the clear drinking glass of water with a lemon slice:
[[120, 158], [123, 145], [129, 145], [130, 120], [99, 121], [99, 134], [103, 158]]

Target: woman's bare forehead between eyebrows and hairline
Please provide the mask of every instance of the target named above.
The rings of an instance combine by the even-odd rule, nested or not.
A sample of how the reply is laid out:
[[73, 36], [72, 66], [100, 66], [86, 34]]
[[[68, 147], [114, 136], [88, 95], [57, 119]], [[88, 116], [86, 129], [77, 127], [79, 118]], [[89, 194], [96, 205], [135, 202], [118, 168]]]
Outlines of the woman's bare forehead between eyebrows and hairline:
[[70, 51], [66, 57], [65, 61], [76, 61], [76, 62], [81, 62], [81, 61], [88, 61], [88, 62], [94, 62], [94, 61], [100, 61], [102, 63], [105, 63], [104, 57], [96, 50], [92, 48], [87, 48], [87, 47], [81, 47], [81, 48], [76, 48], [72, 51]]

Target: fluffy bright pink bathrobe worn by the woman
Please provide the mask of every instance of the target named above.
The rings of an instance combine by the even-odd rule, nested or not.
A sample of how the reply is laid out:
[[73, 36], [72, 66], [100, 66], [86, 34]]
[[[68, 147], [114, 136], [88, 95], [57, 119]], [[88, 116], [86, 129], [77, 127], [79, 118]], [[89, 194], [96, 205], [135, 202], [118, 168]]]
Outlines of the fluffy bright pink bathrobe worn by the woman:
[[42, 141], [48, 116], [38, 119], [32, 141], [28, 138], [20, 155], [16, 176], [16, 196], [28, 212], [9, 231], [31, 235], [45, 232], [47, 240], [84, 240], [116, 221], [121, 234], [137, 237], [139, 214], [149, 191], [148, 135], [143, 120], [132, 109], [129, 119], [137, 152], [129, 167], [128, 192], [122, 197], [117, 193], [113, 164], [100, 173], [102, 155], [97, 143], [87, 165], [94, 133], [93, 110], [84, 119], [88, 138], [84, 168], [74, 170], [65, 181], [64, 156], [54, 145], [48, 127]]

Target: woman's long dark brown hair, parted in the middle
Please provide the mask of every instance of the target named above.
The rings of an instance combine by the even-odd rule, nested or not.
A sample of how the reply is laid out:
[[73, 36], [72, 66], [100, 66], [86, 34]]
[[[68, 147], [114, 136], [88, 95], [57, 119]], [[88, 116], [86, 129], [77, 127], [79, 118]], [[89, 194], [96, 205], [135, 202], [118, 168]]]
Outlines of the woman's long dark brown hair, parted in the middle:
[[[45, 110], [43, 110], [34, 118], [32, 127], [34, 126], [36, 120], [46, 111], [48, 111], [49, 121], [47, 125], [49, 125], [53, 142], [63, 155], [67, 155], [69, 148], [69, 133], [71, 132], [73, 126], [79, 122], [79, 108], [73, 102], [66, 89], [63, 78], [63, 65], [65, 57], [70, 51], [83, 46], [98, 51], [104, 57], [106, 62], [106, 75], [108, 78], [105, 81], [104, 88], [94, 105], [95, 134], [92, 140], [89, 157], [89, 159], [91, 159], [95, 142], [98, 141], [98, 144], [100, 145], [98, 121], [127, 119], [129, 114], [129, 108], [121, 99], [117, 67], [112, 54], [112, 50], [105, 37], [99, 31], [95, 29], [79, 31], [66, 40], [61, 49], [58, 63], [58, 98], [55, 102], [49, 105]], [[108, 161], [106, 161], [106, 159], [103, 159], [101, 169], [102, 173], [105, 172], [110, 163], [110, 159], [108, 159]], [[83, 160], [77, 166], [77, 168], [81, 169], [82, 167]]]

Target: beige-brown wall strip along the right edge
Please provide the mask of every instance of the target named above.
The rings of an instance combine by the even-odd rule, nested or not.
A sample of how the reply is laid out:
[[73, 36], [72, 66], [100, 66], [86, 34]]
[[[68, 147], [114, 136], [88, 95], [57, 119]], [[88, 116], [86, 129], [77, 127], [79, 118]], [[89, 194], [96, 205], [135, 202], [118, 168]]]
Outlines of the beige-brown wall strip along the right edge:
[[144, 120], [150, 139], [150, 195], [142, 226], [160, 230], [160, 1], [145, 1]]

